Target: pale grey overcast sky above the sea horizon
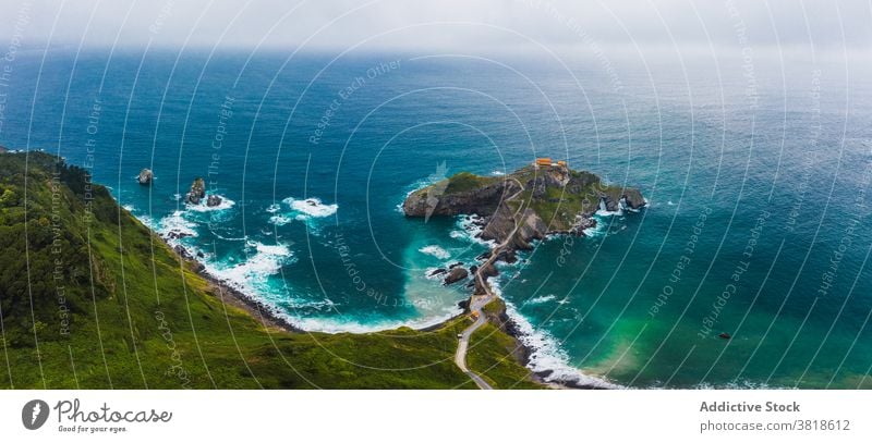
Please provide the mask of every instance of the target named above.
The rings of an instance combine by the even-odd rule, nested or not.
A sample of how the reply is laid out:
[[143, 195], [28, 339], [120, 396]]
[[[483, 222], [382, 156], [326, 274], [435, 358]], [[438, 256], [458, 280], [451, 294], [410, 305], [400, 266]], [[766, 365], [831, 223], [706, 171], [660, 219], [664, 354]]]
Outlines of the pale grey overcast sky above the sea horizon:
[[872, 48], [872, 0], [0, 0], [0, 47]]

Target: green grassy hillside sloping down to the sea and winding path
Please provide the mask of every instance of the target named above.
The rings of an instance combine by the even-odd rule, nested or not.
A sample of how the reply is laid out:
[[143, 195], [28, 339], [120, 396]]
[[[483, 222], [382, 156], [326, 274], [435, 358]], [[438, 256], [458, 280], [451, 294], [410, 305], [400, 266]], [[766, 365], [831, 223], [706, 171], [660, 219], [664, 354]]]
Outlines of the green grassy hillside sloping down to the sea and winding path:
[[[452, 361], [465, 318], [433, 332], [267, 330], [101, 186], [85, 220], [84, 171], [61, 168], [52, 187], [56, 160], [31, 153], [25, 234], [25, 156], [0, 153], [0, 386], [473, 387]], [[529, 371], [504, 358], [510, 341], [488, 334], [471, 358], [496, 386], [530, 387], [514, 384]]]

